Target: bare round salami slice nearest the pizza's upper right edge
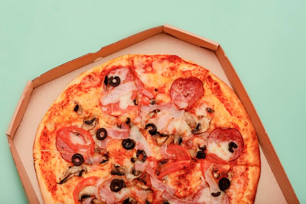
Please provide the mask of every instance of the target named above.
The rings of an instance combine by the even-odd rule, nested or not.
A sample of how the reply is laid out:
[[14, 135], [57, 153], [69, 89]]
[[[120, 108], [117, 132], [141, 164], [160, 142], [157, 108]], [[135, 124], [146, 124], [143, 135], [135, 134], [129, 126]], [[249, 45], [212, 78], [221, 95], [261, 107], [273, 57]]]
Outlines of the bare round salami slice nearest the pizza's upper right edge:
[[192, 107], [204, 94], [203, 83], [195, 77], [178, 78], [170, 89], [170, 97], [179, 109]]

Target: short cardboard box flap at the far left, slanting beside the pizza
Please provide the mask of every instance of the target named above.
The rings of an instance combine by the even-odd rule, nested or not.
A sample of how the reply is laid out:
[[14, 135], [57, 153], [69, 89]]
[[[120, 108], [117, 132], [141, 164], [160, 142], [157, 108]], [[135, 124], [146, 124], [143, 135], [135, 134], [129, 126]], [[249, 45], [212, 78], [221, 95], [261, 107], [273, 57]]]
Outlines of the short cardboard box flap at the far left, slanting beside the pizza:
[[6, 135], [10, 137], [12, 140], [14, 138], [14, 134], [17, 130], [18, 125], [22, 121], [22, 117], [30, 100], [32, 91], [33, 91], [33, 82], [27, 82], [20, 97], [20, 100], [17, 104], [17, 107], [14, 111], [11, 122], [9, 123], [8, 128], [6, 130]]

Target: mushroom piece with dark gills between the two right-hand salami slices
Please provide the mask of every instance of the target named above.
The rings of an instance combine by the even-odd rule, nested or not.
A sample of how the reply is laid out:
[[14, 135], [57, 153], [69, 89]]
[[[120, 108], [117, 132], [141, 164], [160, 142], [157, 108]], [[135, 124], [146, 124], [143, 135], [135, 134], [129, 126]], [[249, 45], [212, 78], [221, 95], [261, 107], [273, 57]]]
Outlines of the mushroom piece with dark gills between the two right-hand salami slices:
[[191, 127], [193, 134], [204, 133], [209, 128], [210, 118], [206, 116], [198, 116], [184, 112], [185, 121]]

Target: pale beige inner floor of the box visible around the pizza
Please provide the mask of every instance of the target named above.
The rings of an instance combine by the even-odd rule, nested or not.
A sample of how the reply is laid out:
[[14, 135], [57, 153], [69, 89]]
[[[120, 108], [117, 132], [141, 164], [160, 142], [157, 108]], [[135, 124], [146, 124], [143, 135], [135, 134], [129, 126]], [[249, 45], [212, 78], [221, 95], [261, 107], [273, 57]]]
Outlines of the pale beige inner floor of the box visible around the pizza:
[[[22, 122], [16, 131], [14, 144], [16, 146], [18, 155], [21, 158], [24, 169], [35, 190], [35, 194], [41, 203], [43, 203], [43, 200], [37, 183], [32, 156], [32, 146], [40, 120], [43, 118], [45, 112], [48, 110], [52, 102], [62, 92], [66, 84], [73, 78], [77, 77], [79, 74], [91, 67], [125, 54], [178, 55], [206, 67], [214, 74], [219, 76], [221, 80], [230, 85], [214, 51], [194, 46], [190, 43], [180, 41], [168, 34], [161, 33], [145, 41], [134, 44], [131, 47], [109, 55], [108, 57], [100, 58], [87, 66], [72, 71], [62, 77], [35, 88], [32, 92], [32, 96], [24, 113]], [[258, 186], [256, 203], [287, 203], [263, 154], [261, 154], [261, 158], [262, 173]]]

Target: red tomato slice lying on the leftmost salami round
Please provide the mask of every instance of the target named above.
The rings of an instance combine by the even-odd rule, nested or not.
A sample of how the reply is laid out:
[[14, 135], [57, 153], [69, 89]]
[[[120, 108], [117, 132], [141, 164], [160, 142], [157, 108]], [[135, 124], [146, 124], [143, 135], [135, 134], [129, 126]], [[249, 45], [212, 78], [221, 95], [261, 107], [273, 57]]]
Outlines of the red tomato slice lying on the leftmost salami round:
[[[62, 127], [57, 131], [57, 137], [74, 152], [80, 153], [85, 157], [89, 157], [94, 153], [94, 140], [85, 129], [75, 126]], [[58, 150], [66, 151], [66, 149]]]

